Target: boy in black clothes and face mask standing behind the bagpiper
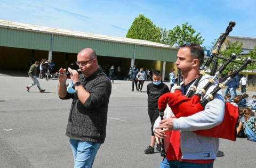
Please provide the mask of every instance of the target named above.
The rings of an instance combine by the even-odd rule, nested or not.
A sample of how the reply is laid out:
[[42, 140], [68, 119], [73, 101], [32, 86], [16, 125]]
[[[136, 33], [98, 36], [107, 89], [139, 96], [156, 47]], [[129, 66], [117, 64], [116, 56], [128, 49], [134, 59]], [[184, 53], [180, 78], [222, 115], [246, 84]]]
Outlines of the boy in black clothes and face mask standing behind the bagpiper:
[[161, 150], [161, 143], [159, 142], [158, 138], [155, 138], [155, 134], [153, 131], [154, 123], [159, 116], [158, 112], [158, 98], [162, 96], [165, 93], [169, 93], [170, 90], [165, 83], [162, 82], [162, 73], [158, 70], [153, 72], [152, 75], [153, 82], [149, 83], [147, 86], [147, 94], [148, 94], [148, 115], [151, 122], [151, 143], [150, 146], [147, 147], [144, 152], [146, 154], [153, 154], [155, 149], [155, 143], [156, 150]]

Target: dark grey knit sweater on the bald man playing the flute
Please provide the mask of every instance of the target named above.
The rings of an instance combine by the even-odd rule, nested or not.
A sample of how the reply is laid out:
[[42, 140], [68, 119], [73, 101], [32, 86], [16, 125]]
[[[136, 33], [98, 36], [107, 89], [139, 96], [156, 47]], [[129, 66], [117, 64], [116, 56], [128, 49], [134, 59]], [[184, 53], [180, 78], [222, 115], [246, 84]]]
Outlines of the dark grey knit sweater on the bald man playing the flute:
[[103, 144], [106, 138], [108, 102], [111, 94], [111, 83], [107, 75], [99, 68], [90, 77], [79, 75], [79, 81], [90, 93], [84, 104], [77, 94], [67, 94], [73, 98], [66, 136], [71, 139]]

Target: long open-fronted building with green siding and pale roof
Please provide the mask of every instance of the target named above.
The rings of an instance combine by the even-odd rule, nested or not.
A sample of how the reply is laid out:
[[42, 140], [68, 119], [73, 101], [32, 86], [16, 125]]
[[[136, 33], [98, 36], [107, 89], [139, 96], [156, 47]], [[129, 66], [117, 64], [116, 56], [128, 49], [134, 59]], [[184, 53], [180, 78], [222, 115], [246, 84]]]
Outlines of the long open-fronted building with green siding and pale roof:
[[[97, 35], [25, 23], [0, 20], [0, 71], [29, 70], [29, 63], [52, 60], [56, 71], [74, 63], [83, 48], [93, 48], [99, 65], [120, 66], [126, 75], [134, 64], [137, 68], [160, 70], [169, 78], [177, 69], [178, 47], [146, 40]], [[177, 72], [177, 71], [176, 71]], [[116, 73], [117, 74], [117, 73]]]

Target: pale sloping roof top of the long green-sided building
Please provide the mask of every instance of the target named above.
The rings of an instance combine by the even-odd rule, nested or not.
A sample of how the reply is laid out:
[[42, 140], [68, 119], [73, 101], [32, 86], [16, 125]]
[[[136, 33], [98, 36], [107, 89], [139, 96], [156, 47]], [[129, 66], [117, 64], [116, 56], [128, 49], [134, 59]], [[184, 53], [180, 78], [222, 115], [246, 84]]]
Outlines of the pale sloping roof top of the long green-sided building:
[[98, 34], [94, 34], [94, 33], [36, 26], [33, 24], [18, 23], [18, 22], [5, 21], [5, 20], [0, 20], [0, 27], [10, 28], [10, 29], [22, 29], [22, 30], [25, 29], [27, 31], [53, 33], [53, 34], [59, 34], [59, 35], [75, 36], [75, 37], [97, 39], [97, 40], [103, 40], [103, 41], [113, 41], [113, 42], [117, 42], [117, 43], [137, 44], [137, 45], [144, 45], [144, 46], [178, 49], [178, 47], [175, 47], [175, 46], [155, 43], [155, 42], [151, 42], [151, 41], [147, 41], [147, 40], [98, 35]]

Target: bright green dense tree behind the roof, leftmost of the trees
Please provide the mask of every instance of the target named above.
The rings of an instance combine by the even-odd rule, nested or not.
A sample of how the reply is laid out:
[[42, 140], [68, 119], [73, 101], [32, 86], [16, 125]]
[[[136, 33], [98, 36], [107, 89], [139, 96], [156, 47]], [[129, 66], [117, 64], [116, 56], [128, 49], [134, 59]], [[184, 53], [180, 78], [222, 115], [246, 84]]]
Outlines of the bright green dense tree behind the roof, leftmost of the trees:
[[160, 43], [161, 28], [156, 27], [150, 19], [140, 14], [138, 18], [134, 19], [126, 37]]

